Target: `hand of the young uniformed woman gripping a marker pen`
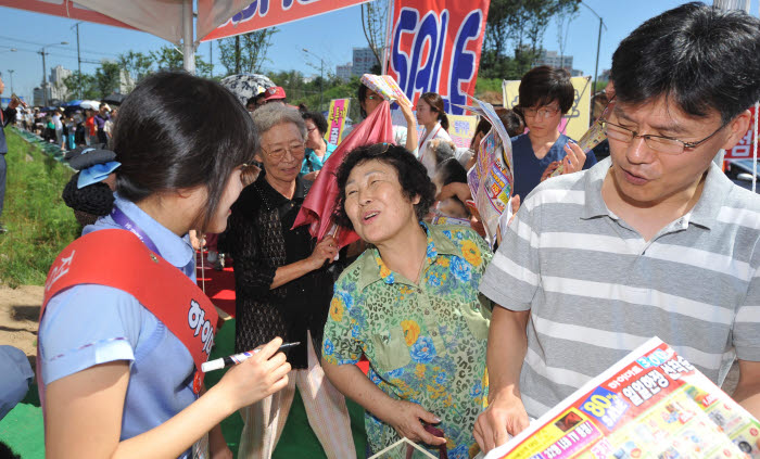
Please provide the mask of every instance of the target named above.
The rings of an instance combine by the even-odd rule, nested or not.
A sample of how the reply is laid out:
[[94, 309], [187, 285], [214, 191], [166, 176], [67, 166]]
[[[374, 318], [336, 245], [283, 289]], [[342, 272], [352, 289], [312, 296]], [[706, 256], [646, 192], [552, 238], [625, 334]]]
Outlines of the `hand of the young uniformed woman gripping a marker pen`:
[[281, 344], [280, 337], [265, 344], [251, 358], [230, 368], [212, 391], [221, 387], [236, 411], [283, 388], [288, 385], [290, 364], [284, 354], [277, 352]]

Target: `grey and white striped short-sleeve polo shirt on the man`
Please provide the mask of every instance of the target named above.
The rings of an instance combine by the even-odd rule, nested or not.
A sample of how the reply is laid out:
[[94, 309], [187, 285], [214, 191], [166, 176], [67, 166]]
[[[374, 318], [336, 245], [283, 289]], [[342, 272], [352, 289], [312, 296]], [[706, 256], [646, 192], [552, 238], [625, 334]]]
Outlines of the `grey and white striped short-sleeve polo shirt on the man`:
[[721, 384], [760, 361], [760, 196], [714, 165], [685, 216], [645, 241], [601, 199], [611, 163], [525, 200], [480, 290], [530, 309], [520, 390], [540, 417], [651, 336]]

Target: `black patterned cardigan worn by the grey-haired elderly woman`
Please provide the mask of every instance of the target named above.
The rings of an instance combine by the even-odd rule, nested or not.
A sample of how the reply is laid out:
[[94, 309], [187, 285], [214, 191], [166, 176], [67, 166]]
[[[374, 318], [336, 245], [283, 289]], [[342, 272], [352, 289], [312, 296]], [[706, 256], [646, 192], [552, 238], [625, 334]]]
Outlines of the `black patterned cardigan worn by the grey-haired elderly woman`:
[[278, 267], [306, 258], [314, 250], [308, 226], [291, 230], [306, 192], [299, 179], [293, 199], [288, 200], [262, 173], [232, 205], [225, 234], [225, 246], [235, 260], [236, 352], [253, 349], [275, 336], [300, 341], [302, 345], [288, 353], [294, 369], [308, 367], [306, 330], [320, 355], [332, 297], [332, 276], [325, 268], [269, 289]]

